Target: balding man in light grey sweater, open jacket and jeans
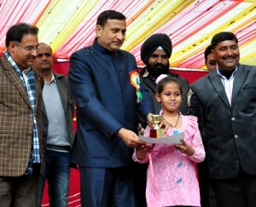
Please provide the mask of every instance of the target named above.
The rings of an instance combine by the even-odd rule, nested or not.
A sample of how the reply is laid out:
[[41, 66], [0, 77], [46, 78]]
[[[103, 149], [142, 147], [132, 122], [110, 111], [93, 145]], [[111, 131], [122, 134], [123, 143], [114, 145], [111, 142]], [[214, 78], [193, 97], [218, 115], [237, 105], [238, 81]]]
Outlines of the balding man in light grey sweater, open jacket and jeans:
[[48, 181], [49, 205], [67, 207], [70, 151], [73, 147], [74, 101], [67, 77], [52, 72], [52, 49], [39, 43], [35, 69], [44, 77], [42, 127], [45, 145], [45, 171], [39, 183], [39, 204]]

